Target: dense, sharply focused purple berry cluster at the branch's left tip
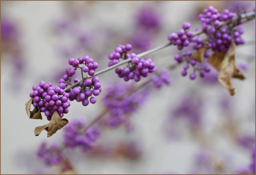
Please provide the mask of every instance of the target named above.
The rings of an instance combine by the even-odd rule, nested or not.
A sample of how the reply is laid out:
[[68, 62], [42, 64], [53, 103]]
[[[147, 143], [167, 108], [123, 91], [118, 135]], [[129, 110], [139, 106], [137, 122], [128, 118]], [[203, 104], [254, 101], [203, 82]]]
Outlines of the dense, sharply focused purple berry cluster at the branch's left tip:
[[38, 86], [33, 86], [30, 97], [34, 98], [33, 106], [39, 106], [40, 112], [44, 112], [47, 120], [51, 120], [52, 114], [57, 110], [62, 118], [68, 113], [70, 102], [68, 101], [69, 94], [64, 93], [60, 87], [52, 87], [52, 83], [44, 83], [40, 81]]

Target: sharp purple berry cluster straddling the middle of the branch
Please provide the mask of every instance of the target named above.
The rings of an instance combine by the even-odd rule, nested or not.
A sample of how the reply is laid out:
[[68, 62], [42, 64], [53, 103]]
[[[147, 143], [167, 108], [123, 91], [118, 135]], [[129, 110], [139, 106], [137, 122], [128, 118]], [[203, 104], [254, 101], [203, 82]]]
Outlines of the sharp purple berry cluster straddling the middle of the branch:
[[115, 51], [108, 55], [108, 58], [112, 60], [109, 62], [108, 66], [118, 63], [118, 59], [120, 58], [132, 59], [132, 61], [128, 63], [128, 67], [125, 67], [124, 69], [118, 67], [115, 69], [115, 72], [118, 74], [118, 77], [124, 78], [124, 81], [134, 79], [134, 81], [138, 82], [140, 81], [141, 77], [147, 77], [148, 73], [154, 72], [155, 65], [152, 59], [139, 59], [138, 57], [136, 57], [135, 53], [128, 54], [127, 47], [128, 50], [132, 49], [132, 45], [130, 44], [127, 44], [126, 46], [118, 45]]

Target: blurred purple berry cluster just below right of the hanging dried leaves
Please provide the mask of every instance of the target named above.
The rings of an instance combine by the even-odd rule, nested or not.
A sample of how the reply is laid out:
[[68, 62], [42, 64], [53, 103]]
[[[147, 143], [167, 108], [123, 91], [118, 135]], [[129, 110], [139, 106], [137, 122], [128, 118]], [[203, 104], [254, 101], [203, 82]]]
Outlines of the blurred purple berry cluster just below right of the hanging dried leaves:
[[85, 128], [83, 118], [74, 119], [64, 128], [64, 144], [68, 147], [80, 146], [84, 150], [88, 150], [93, 146], [95, 140], [100, 136], [97, 128]]

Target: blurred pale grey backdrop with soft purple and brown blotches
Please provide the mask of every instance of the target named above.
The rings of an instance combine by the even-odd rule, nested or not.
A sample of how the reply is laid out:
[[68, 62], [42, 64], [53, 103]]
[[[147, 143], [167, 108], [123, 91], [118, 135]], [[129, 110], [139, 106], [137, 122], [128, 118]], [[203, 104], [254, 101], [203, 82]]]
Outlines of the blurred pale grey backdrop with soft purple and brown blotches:
[[[130, 43], [134, 53], [141, 53], [166, 43], [183, 22], [190, 22], [194, 31], [201, 26], [198, 14], [210, 5], [219, 12], [251, 12], [255, 2], [2, 1], [1, 173], [61, 173], [36, 156], [43, 141], [61, 143], [63, 129], [50, 138], [45, 131], [35, 137], [34, 128], [48, 121], [44, 115], [40, 121], [26, 115], [32, 86], [41, 80], [57, 86], [70, 58], [90, 55], [101, 70], [118, 44]], [[216, 174], [223, 169], [231, 174], [248, 169], [253, 147], [255, 154], [255, 20], [242, 27], [245, 44], [236, 47], [236, 65], [246, 79], [232, 82], [234, 96], [218, 83], [213, 68], [204, 79], [191, 81], [177, 67], [170, 71], [172, 85], [147, 89], [143, 105], [128, 122], [114, 128], [99, 125], [101, 135], [91, 150], [65, 150], [73, 171]], [[147, 58], [163, 69], [175, 63], [177, 53], [176, 47], [168, 47]], [[98, 77], [102, 93], [97, 103], [82, 106], [73, 101], [65, 118], [89, 122], [103, 108], [104, 91], [123, 83], [114, 71]]]

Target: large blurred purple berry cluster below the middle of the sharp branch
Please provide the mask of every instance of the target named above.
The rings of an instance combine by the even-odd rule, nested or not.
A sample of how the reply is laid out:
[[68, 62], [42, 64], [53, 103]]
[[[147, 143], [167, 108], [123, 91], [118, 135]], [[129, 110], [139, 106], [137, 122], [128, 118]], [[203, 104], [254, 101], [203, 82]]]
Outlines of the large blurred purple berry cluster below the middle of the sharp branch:
[[109, 86], [103, 96], [103, 103], [109, 110], [107, 124], [116, 127], [125, 120], [125, 116], [135, 112], [148, 97], [148, 91], [132, 92], [134, 84]]

